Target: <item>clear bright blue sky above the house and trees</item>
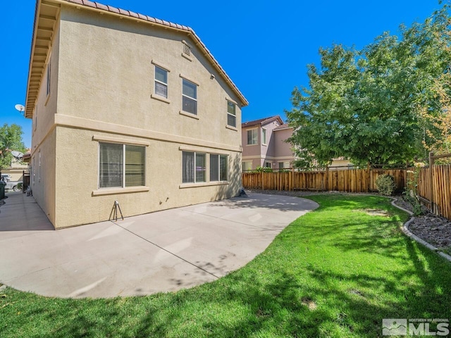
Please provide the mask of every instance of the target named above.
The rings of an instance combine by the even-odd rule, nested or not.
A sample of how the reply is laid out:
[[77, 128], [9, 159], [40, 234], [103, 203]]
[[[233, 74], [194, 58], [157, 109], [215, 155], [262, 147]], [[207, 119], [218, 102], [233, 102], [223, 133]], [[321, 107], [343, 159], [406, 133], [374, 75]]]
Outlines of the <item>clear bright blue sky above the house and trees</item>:
[[[401, 23], [422, 22], [440, 8], [438, 0], [101, 0], [102, 4], [192, 27], [249, 101], [242, 122], [290, 110], [294, 87], [308, 85], [307, 64], [333, 43], [373, 42]], [[8, 1], [0, 22], [0, 124], [23, 126], [31, 146], [31, 120], [14, 106], [25, 104], [35, 1]]]

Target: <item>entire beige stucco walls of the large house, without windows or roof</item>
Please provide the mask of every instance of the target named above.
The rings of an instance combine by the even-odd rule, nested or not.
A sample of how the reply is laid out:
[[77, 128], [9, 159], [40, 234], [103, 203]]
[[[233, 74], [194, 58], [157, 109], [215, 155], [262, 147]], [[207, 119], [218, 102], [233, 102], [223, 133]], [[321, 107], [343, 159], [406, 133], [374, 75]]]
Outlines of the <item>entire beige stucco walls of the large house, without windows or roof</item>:
[[[39, 94], [32, 142], [45, 163], [33, 192], [55, 227], [108, 220], [116, 200], [127, 217], [236, 196], [240, 102], [187, 35], [68, 6], [58, 27], [51, 95]], [[169, 70], [166, 100], [152, 98], [155, 64]], [[195, 116], [180, 113], [180, 75], [198, 84]], [[227, 100], [237, 103], [235, 128]], [[98, 188], [99, 139], [147, 145], [145, 187]], [[183, 150], [228, 155], [228, 182], [182, 184]]]

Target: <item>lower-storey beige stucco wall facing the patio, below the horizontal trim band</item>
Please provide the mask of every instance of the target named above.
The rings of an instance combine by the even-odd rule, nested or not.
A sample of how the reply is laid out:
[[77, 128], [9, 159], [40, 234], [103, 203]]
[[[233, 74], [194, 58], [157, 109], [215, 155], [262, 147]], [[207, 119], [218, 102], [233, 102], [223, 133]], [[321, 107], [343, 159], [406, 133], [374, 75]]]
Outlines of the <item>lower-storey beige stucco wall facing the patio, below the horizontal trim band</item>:
[[[124, 137], [130, 144], [147, 143], [146, 187], [132, 189], [98, 189], [99, 142], [97, 138], [117, 138], [117, 134], [92, 130], [56, 128], [56, 227], [68, 227], [108, 220], [114, 201], [118, 200], [125, 217], [167, 208], [198, 204], [236, 196], [241, 187], [240, 153], [219, 151], [228, 155], [230, 180], [227, 184], [209, 186], [182, 184], [182, 151], [218, 152], [204, 146], [187, 146], [140, 137]], [[118, 139], [119, 140], [119, 139]], [[207, 158], [207, 173], [208, 158]], [[118, 192], [122, 190], [122, 192]], [[111, 191], [111, 194], [109, 192]]]

